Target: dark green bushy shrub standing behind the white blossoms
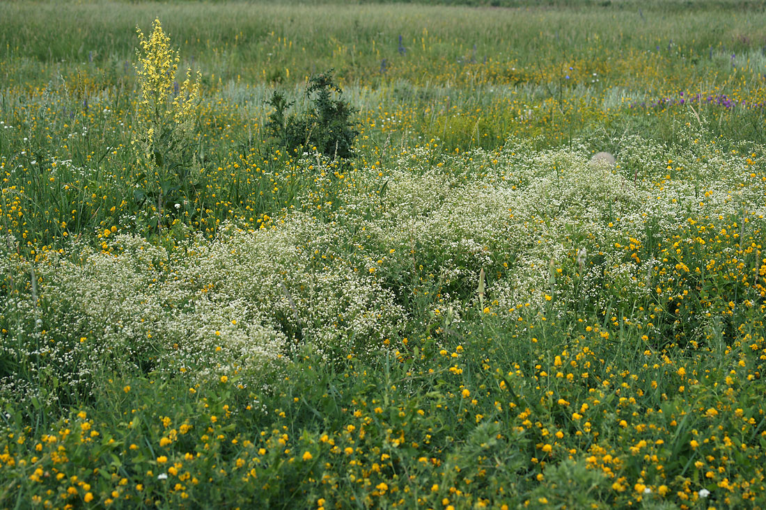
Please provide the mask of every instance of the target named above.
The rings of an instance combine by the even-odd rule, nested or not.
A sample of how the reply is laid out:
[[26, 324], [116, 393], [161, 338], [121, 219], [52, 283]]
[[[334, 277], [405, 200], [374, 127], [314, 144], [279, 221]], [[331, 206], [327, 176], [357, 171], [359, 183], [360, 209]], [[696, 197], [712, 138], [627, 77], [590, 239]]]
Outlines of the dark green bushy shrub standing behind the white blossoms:
[[283, 93], [274, 91], [267, 101], [274, 108], [264, 126], [267, 136], [275, 145], [290, 152], [300, 147], [316, 147], [329, 158], [352, 156], [352, 145], [359, 134], [352, 122], [357, 110], [343, 100], [343, 91], [335, 83], [332, 70], [309, 79], [306, 97], [310, 103], [306, 112], [287, 115], [286, 110], [293, 103], [288, 102]]

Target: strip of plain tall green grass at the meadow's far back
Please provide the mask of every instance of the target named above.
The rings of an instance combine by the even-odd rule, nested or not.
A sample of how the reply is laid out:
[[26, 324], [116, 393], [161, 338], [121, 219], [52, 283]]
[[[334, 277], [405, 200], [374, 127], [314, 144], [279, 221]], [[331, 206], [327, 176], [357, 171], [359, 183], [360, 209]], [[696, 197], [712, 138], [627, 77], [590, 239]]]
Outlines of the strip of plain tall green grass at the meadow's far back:
[[[394, 68], [414, 64], [437, 80], [434, 70], [459, 59], [516, 60], [527, 67], [549, 60], [595, 62], [656, 47], [680, 63], [707, 57], [710, 47], [760, 51], [766, 38], [761, 11], [695, 7], [667, 15], [651, 7], [5, 2], [0, 15], [6, 60], [23, 56], [48, 65], [66, 60], [113, 67], [133, 56], [136, 26], [146, 31], [159, 16], [186, 58], [223, 80], [302, 81], [326, 67], [349, 79], [370, 79], [379, 74], [382, 59]], [[453, 22], [457, 18], [459, 24]], [[398, 51], [400, 35], [405, 54]]]

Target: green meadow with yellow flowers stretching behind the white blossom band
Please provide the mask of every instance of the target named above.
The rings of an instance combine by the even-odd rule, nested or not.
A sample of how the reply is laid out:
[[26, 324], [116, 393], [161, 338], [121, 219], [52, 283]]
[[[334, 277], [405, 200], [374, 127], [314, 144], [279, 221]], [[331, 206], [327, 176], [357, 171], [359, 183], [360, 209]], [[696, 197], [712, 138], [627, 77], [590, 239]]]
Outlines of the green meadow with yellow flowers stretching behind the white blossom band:
[[[113, 176], [113, 193], [95, 197], [81, 186], [63, 195], [56, 188], [57, 211], [35, 206], [31, 228], [16, 234], [28, 230], [47, 244], [63, 230], [103, 230], [140, 216], [135, 201], [123, 200], [141, 179], [127, 149], [136, 124], [133, 48], [136, 25], [146, 31], [158, 15], [185, 64], [205, 71], [197, 143], [210, 168], [195, 186], [216, 191], [198, 194], [184, 212], [208, 234], [218, 221], [253, 223], [293, 203], [300, 182], [272, 186], [274, 175], [243, 179], [224, 169], [244, 159], [266, 171], [273, 155], [261, 128], [270, 92], [286, 89], [303, 108], [307, 75], [328, 67], [360, 110], [362, 166], [387, 147], [432, 139], [448, 152], [493, 149], [509, 136], [541, 136], [541, 146], [578, 139], [593, 152], [617, 151], [630, 135], [673, 143], [676, 114], [689, 111], [676, 103], [698, 94], [692, 109], [726, 149], [763, 142], [764, 14], [628, 7], [4, 3], [2, 103], [17, 129], [5, 129], [0, 150], [23, 159], [27, 139], [44, 154], [25, 168], [51, 155], [77, 167], [95, 158], [98, 175]], [[48, 191], [31, 191], [33, 183], [41, 181], [26, 184], [26, 195], [39, 205], [35, 194]]]

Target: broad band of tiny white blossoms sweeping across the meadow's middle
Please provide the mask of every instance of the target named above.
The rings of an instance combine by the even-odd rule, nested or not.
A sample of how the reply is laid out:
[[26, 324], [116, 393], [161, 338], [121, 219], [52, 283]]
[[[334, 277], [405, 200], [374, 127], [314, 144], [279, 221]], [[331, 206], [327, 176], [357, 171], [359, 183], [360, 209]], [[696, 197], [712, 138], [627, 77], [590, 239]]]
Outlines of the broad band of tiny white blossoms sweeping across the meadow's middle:
[[[494, 152], [401, 151], [383, 171], [307, 159], [293, 170], [315, 186], [268, 228], [228, 225], [172, 251], [129, 235], [111, 238], [113, 253], [71, 244], [35, 264], [37, 302], [25, 288], [0, 303], [6, 373], [26, 366], [87, 387], [92, 371], [133, 365], [255, 381], [299, 345], [369, 356], [427, 316], [460, 322], [482, 270], [484, 312], [509, 322], [629, 304], [654, 288], [659, 262], [631, 260], [626, 246], [669, 239], [690, 218], [742, 217], [740, 235], [764, 227], [758, 165], [691, 126], [669, 148], [626, 137], [614, 166], [589, 164], [581, 145], [513, 140]], [[11, 253], [2, 272], [30, 273]], [[0, 391], [38, 391], [21, 379]]]

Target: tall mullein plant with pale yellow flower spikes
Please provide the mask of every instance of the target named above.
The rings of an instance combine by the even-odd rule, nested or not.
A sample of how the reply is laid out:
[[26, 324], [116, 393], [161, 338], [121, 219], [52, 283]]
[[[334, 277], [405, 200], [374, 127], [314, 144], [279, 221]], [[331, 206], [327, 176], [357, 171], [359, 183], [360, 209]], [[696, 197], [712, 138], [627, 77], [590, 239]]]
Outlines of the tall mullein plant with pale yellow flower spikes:
[[172, 214], [188, 209], [197, 188], [192, 178], [200, 172], [192, 171], [199, 167], [194, 143], [201, 74], [197, 71], [192, 80], [191, 69], [187, 69], [182, 83], [175, 80], [181, 57], [171, 47], [159, 19], [149, 38], [140, 29], [136, 31], [140, 94], [133, 145], [142, 172], [133, 198], [139, 207], [146, 204], [149, 225], [159, 230], [163, 224], [171, 224]]

